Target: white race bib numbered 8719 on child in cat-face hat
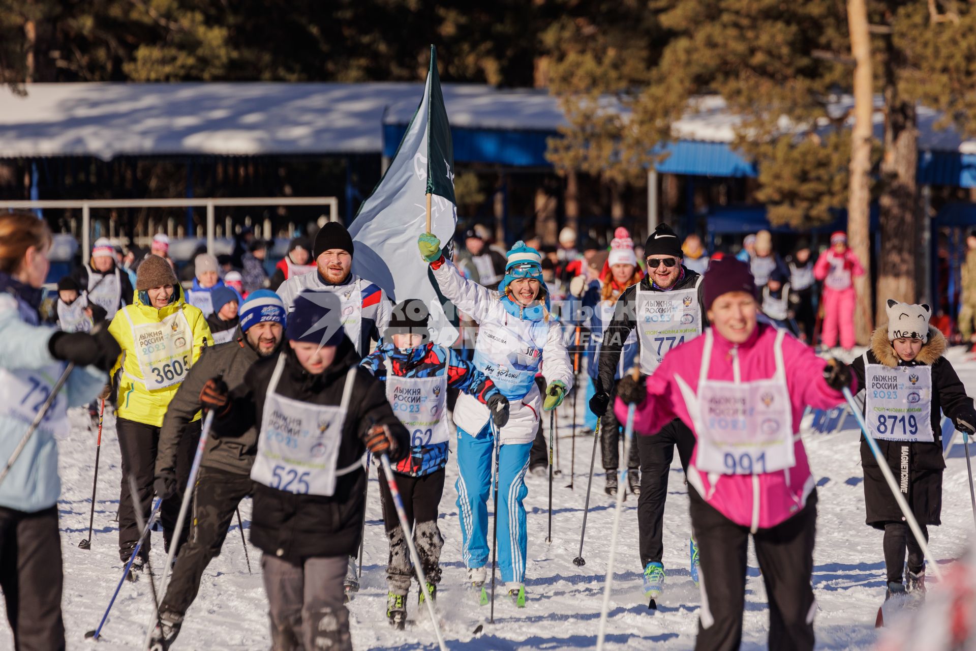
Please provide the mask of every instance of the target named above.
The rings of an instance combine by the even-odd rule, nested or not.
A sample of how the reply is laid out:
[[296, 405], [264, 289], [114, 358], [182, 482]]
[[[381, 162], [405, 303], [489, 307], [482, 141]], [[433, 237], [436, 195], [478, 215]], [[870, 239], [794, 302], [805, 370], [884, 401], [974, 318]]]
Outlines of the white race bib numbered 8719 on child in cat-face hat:
[[932, 367], [865, 365], [865, 414], [874, 438], [931, 443]]

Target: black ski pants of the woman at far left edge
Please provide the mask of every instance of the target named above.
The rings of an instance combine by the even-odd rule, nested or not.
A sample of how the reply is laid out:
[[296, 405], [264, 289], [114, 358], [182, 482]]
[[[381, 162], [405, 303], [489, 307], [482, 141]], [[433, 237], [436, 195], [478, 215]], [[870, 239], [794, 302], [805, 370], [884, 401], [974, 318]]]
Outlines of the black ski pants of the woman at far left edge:
[[17, 651], [64, 648], [63, 586], [58, 507], [0, 507], [0, 589]]

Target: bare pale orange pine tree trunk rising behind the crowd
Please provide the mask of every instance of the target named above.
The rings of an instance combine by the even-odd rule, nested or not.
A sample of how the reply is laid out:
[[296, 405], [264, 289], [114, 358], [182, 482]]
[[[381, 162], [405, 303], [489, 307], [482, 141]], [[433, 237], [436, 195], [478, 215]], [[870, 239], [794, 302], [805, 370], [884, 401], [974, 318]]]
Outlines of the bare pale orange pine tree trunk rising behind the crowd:
[[857, 343], [871, 339], [871, 139], [874, 89], [871, 69], [871, 34], [865, 0], [848, 0], [847, 21], [851, 35], [854, 69], [854, 128], [851, 133], [850, 187], [847, 196], [847, 238], [851, 250], [864, 265], [865, 274], [854, 279], [857, 292], [855, 328]]

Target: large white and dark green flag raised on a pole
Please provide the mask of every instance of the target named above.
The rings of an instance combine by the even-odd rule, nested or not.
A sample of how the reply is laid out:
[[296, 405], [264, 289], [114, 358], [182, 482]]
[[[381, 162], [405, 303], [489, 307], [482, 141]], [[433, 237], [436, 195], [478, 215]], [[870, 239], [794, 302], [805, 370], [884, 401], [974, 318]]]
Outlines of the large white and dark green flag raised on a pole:
[[435, 281], [417, 248], [417, 238], [427, 230], [427, 194], [430, 230], [446, 245], [458, 221], [454, 147], [433, 46], [424, 99], [383, 179], [359, 207], [349, 234], [355, 242], [353, 273], [382, 287], [394, 303], [424, 301], [434, 343], [450, 346], [458, 332], [444, 314]]

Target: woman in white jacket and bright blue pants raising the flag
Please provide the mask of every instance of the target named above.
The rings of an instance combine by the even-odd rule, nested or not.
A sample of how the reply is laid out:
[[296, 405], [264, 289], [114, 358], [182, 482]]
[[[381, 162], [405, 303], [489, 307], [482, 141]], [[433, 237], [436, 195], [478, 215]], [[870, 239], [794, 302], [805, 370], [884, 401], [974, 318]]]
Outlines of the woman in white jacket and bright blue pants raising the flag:
[[[505, 277], [498, 292], [466, 280], [444, 259], [440, 240], [420, 236], [424, 260], [430, 264], [441, 293], [478, 322], [474, 365], [508, 398], [505, 427], [490, 424], [491, 411], [474, 396], [462, 393], [454, 409], [458, 426], [458, 508], [468, 583], [480, 590], [488, 560], [488, 509], [495, 432], [499, 432], [497, 521], [499, 565], [508, 595], [525, 605], [526, 528], [522, 501], [528, 494], [525, 472], [543, 410], [552, 411], [573, 385], [573, 369], [562, 341], [562, 327], [549, 313], [549, 290], [542, 282], [542, 256], [521, 241], [508, 251]], [[548, 383], [545, 402], [535, 383], [542, 369]], [[540, 409], [542, 407], [542, 409]]]

